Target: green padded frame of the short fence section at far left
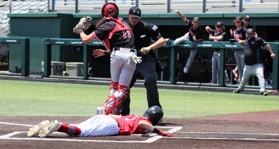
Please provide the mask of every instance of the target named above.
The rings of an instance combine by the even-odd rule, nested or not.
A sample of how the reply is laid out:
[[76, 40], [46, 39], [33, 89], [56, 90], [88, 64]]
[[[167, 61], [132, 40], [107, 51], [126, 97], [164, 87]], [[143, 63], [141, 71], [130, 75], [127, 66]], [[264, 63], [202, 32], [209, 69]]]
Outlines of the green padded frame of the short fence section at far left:
[[[29, 76], [29, 38], [0, 37], [0, 43], [21, 45], [21, 73], [0, 73], [0, 75]], [[10, 48], [12, 51], [13, 48]]]

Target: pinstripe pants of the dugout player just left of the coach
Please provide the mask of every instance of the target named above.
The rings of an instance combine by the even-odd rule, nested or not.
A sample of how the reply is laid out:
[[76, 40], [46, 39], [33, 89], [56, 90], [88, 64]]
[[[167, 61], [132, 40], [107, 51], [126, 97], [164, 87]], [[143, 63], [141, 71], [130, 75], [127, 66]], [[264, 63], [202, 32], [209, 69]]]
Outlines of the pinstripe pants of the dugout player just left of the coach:
[[240, 82], [243, 76], [244, 70], [244, 51], [242, 49], [235, 49], [235, 62], [238, 67], [239, 78], [238, 81]]

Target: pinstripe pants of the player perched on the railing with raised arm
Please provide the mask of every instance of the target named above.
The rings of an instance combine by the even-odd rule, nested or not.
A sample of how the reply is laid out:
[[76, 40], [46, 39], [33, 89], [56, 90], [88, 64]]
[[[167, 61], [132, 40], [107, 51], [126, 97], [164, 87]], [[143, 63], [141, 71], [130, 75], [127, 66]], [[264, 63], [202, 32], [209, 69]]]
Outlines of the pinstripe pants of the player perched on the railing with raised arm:
[[[190, 39], [189, 39], [189, 32], [186, 33], [184, 36], [174, 40], [174, 45], [177, 46], [177, 45], [179, 45], [179, 44], [181, 44], [182, 42], [185, 42], [185, 41], [190, 41]], [[196, 56], [196, 53], [197, 53], [197, 49], [191, 49], [190, 56], [189, 56], [189, 58], [187, 60], [186, 66], [185, 66], [188, 69], [192, 65], [192, 62], [193, 62], [193, 60], [194, 60], [194, 58]]]

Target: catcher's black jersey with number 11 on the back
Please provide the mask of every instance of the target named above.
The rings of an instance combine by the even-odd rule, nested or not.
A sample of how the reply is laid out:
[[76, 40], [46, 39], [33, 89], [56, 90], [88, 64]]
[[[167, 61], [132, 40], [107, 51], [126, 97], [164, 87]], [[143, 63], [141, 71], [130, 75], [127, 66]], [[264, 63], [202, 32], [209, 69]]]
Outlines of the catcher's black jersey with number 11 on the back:
[[[122, 21], [123, 24], [128, 24]], [[105, 38], [108, 38], [109, 33], [114, 30], [116, 26], [116, 22], [113, 20], [107, 21], [101, 26], [99, 26], [96, 30], [92, 32], [93, 36], [98, 41], [103, 41]], [[135, 49], [135, 41], [134, 34], [131, 30], [120, 30], [113, 33], [111, 39], [108, 39], [110, 43], [110, 49], [113, 48], [127, 48], [127, 49]]]

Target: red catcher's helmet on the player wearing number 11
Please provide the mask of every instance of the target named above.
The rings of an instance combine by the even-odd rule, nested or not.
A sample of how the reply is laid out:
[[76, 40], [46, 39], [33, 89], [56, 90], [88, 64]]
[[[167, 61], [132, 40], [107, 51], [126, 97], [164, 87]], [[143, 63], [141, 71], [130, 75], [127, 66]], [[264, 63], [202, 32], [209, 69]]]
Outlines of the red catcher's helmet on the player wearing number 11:
[[119, 9], [115, 3], [105, 3], [101, 10], [101, 15], [103, 17], [118, 17]]

